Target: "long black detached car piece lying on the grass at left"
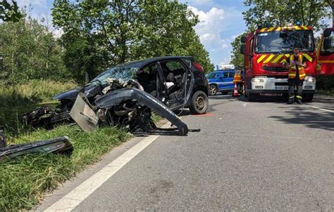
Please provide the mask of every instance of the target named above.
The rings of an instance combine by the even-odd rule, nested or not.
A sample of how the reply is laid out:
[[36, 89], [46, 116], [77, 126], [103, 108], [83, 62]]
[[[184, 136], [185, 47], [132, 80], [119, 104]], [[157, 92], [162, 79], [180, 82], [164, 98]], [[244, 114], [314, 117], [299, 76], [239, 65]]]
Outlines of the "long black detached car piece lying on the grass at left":
[[0, 161], [36, 152], [70, 155], [73, 152], [73, 145], [67, 136], [51, 140], [39, 140], [32, 143], [11, 145], [0, 148]]

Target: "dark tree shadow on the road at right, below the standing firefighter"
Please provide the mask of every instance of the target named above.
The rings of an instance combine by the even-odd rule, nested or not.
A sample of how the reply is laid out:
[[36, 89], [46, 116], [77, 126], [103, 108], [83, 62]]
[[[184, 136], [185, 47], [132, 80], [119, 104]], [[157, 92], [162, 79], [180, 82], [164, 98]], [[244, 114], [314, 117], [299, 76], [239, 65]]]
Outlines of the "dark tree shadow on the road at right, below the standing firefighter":
[[269, 118], [283, 121], [287, 124], [304, 124], [309, 128], [321, 128], [327, 131], [334, 130], [334, 114], [331, 112], [309, 111], [308, 108], [291, 108], [287, 116], [271, 116]]

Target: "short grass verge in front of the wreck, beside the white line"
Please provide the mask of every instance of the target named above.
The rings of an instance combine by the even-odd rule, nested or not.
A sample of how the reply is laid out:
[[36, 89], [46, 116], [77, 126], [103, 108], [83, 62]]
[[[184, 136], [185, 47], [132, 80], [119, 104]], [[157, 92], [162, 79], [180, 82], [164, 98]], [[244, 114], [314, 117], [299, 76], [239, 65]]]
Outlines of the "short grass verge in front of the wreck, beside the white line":
[[58, 126], [52, 131], [39, 130], [23, 135], [13, 143], [26, 143], [68, 135], [73, 142], [72, 157], [57, 154], [33, 154], [0, 164], [0, 211], [30, 209], [42, 194], [54, 190], [101, 155], [128, 140], [130, 134], [119, 128], [100, 128], [85, 133], [78, 126]]

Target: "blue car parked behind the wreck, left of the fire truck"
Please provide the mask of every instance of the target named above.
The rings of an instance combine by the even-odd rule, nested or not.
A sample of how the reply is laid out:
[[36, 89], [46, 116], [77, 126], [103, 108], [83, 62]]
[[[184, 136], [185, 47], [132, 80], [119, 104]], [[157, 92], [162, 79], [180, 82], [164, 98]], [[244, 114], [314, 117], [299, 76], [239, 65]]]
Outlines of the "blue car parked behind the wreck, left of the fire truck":
[[210, 95], [216, 95], [217, 92], [227, 94], [234, 88], [233, 77], [235, 70], [218, 70], [206, 74], [209, 81]]

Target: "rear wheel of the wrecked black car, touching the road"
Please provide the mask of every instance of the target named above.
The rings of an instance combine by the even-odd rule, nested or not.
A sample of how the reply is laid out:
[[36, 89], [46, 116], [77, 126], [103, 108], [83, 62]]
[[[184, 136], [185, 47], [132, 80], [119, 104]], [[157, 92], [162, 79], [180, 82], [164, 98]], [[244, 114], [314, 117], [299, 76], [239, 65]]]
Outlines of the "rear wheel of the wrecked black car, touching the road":
[[204, 114], [209, 107], [209, 98], [203, 91], [196, 91], [192, 95], [192, 102], [189, 107], [192, 114]]

